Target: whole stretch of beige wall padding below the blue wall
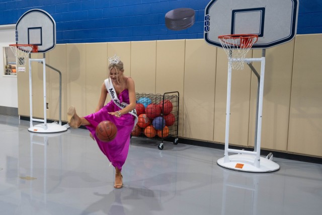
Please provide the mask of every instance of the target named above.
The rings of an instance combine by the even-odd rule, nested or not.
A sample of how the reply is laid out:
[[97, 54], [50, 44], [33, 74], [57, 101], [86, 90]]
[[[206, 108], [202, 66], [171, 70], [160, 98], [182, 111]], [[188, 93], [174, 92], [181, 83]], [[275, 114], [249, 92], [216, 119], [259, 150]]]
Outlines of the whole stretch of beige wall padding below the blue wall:
[[[316, 45], [321, 43], [321, 34], [297, 35], [266, 50], [262, 149], [322, 157], [322, 56]], [[224, 142], [227, 56], [203, 39], [56, 45], [46, 53], [46, 62], [62, 73], [63, 121], [70, 105], [79, 115], [94, 112], [108, 77], [107, 57], [114, 54], [124, 62], [137, 93], [180, 93], [179, 137]], [[262, 50], [247, 55], [261, 56]], [[261, 73], [260, 63], [253, 64]], [[57, 120], [59, 77], [47, 70], [47, 117]], [[33, 64], [33, 105], [39, 117], [42, 72], [41, 65]], [[231, 87], [229, 144], [253, 147], [257, 78], [247, 64], [232, 70]], [[18, 73], [18, 94], [19, 114], [29, 116], [28, 67]]]

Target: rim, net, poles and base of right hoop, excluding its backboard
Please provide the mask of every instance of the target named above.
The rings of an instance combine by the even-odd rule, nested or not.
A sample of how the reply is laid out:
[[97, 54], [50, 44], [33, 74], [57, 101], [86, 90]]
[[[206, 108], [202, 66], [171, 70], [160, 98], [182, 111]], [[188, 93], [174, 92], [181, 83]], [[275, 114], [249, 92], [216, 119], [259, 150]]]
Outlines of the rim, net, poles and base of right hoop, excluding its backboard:
[[[228, 78], [227, 78], [227, 103], [226, 103], [226, 129], [225, 129], [225, 151], [224, 157], [217, 160], [217, 164], [227, 169], [244, 172], [274, 172], [279, 170], [279, 165], [272, 161], [273, 155], [266, 158], [261, 157], [261, 130], [263, 111], [263, 92], [265, 74], [265, 50], [261, 58], [245, 58], [248, 51], [257, 42], [258, 35], [255, 34], [230, 34], [218, 36], [218, 40], [228, 56]], [[259, 75], [251, 62], [261, 62], [261, 75]], [[230, 94], [231, 94], [231, 70], [243, 69], [244, 62], [251, 67], [258, 78], [255, 147], [254, 151], [235, 150], [229, 148], [229, 121], [230, 121]], [[235, 153], [229, 155], [228, 153]]]

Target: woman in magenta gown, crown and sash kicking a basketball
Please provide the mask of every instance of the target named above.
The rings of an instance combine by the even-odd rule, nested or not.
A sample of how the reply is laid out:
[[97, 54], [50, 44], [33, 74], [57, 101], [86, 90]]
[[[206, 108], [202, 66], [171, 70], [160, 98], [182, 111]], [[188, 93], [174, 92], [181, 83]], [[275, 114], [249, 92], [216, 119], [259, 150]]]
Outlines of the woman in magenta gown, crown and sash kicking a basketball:
[[[109, 79], [105, 80], [102, 85], [101, 97], [95, 113], [79, 117], [76, 114], [75, 107], [71, 106], [67, 115], [71, 127], [78, 128], [85, 125], [91, 132], [91, 137], [97, 141], [101, 151], [115, 167], [114, 188], [119, 189], [123, 187], [121, 170], [127, 158], [130, 134], [135, 126], [135, 118], [137, 118], [135, 113], [135, 87], [133, 79], [123, 75], [123, 62], [119, 60], [119, 57], [114, 55], [114, 57], [108, 59], [110, 61], [108, 67]], [[104, 106], [108, 93], [112, 100]], [[112, 121], [117, 127], [117, 135], [110, 142], [99, 140], [95, 134], [97, 125], [104, 120]]]

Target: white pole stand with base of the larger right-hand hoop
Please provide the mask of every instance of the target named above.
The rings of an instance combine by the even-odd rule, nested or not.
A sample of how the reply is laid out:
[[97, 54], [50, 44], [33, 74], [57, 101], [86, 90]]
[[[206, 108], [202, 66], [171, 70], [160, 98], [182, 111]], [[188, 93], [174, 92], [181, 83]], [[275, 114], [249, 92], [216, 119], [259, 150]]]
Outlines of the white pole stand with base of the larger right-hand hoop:
[[[252, 71], [258, 77], [257, 92], [257, 110], [256, 110], [256, 128], [255, 128], [255, 146], [254, 151], [229, 149], [229, 121], [230, 121], [230, 94], [231, 94], [231, 66], [229, 63], [234, 60], [228, 56], [228, 78], [227, 78], [227, 103], [226, 103], [226, 127], [225, 127], [225, 149], [224, 157], [218, 159], [217, 164], [227, 169], [244, 172], [274, 172], [279, 170], [279, 165], [272, 161], [272, 156], [261, 157], [261, 133], [262, 133], [262, 113], [263, 113], [263, 95], [264, 95], [264, 75], [265, 75], [265, 49], [263, 49], [261, 58], [245, 58], [244, 62], [249, 65], [253, 61], [261, 62], [261, 75], [259, 77], [255, 68], [250, 65]], [[228, 155], [236, 153], [236, 155]]]

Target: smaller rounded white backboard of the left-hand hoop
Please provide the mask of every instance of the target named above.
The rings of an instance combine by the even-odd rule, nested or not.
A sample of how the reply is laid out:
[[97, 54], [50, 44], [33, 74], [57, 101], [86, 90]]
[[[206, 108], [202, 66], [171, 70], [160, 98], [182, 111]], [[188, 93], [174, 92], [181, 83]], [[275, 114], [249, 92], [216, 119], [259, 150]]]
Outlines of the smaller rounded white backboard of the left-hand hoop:
[[56, 45], [56, 23], [45, 11], [32, 9], [16, 24], [16, 43], [38, 45], [38, 52], [47, 52]]

